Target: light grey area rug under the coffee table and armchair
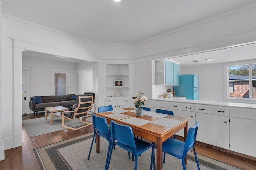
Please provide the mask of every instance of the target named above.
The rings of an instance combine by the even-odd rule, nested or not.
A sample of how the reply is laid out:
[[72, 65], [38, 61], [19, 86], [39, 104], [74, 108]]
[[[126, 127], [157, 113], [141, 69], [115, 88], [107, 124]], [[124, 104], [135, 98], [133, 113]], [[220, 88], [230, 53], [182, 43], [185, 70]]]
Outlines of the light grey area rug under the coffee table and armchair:
[[[90, 121], [90, 119], [91, 117], [88, 117], [86, 121]], [[66, 129], [62, 127], [61, 117], [52, 119], [52, 125], [50, 125], [50, 117], [47, 120], [45, 120], [45, 117], [23, 120], [22, 124], [31, 137]], [[80, 123], [78, 119], [74, 119], [68, 122], [65, 121], [65, 125], [68, 127], [77, 127], [84, 124]]]

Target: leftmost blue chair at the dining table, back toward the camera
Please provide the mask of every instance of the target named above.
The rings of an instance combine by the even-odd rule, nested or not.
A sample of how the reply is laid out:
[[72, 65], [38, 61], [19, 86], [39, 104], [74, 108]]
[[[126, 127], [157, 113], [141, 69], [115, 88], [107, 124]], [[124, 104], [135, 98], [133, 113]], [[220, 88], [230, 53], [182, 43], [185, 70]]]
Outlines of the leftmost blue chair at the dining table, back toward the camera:
[[107, 125], [106, 118], [96, 116], [95, 114], [92, 114], [92, 125], [93, 125], [93, 137], [92, 137], [92, 144], [90, 147], [90, 151], [89, 151], [87, 160], [90, 159], [90, 154], [92, 151], [94, 137], [96, 136], [96, 134], [98, 134], [101, 137], [108, 140], [108, 153], [107, 153], [106, 164], [105, 164], [105, 170], [106, 170], [107, 164], [108, 164], [108, 156], [109, 156], [110, 146], [111, 146], [110, 128]]

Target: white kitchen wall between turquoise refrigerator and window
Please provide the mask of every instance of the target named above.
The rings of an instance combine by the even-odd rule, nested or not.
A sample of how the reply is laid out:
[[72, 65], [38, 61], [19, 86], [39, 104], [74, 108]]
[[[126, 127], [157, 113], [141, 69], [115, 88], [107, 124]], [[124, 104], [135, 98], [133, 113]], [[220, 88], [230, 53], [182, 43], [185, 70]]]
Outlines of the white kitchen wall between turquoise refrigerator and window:
[[180, 74], [196, 74], [199, 76], [199, 100], [223, 102], [223, 69], [223, 64], [180, 67]]

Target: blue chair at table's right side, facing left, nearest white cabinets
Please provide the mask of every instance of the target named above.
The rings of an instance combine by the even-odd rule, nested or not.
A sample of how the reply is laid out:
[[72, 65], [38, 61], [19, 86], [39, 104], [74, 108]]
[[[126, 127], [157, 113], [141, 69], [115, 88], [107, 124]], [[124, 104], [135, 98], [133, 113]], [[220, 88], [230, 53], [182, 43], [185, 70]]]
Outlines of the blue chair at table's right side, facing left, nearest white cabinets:
[[[172, 156], [175, 156], [176, 158], [179, 158], [182, 160], [183, 170], [186, 170], [185, 158], [187, 156], [187, 153], [190, 152], [190, 150], [192, 148], [194, 150], [197, 168], [198, 168], [198, 170], [200, 170], [197, 156], [196, 156], [196, 150], [195, 150], [195, 141], [196, 141], [196, 134], [197, 134], [198, 126], [199, 126], [199, 122], [196, 122], [195, 126], [190, 127], [188, 129], [188, 135], [186, 138], [186, 142], [183, 142], [181, 140], [174, 139], [174, 138], [168, 138], [166, 141], [164, 141], [162, 143], [162, 151], [163, 152], [170, 154]], [[154, 146], [154, 148], [156, 148], [156, 146]], [[154, 157], [151, 158], [151, 161], [153, 162], [154, 168], [155, 168]], [[151, 164], [152, 164], [152, 162], [151, 162]], [[150, 170], [152, 170], [152, 166], [150, 166]]]

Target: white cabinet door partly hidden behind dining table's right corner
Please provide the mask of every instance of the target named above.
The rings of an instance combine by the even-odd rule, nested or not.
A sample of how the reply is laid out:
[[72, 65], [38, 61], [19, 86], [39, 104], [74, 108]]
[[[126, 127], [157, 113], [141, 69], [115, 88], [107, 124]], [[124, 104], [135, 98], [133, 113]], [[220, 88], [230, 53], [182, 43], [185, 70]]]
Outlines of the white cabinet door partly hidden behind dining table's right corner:
[[[171, 111], [174, 112], [174, 116], [188, 118], [189, 119], [189, 121], [188, 121], [188, 128], [190, 128], [190, 127], [195, 125], [195, 113], [194, 112], [181, 111], [181, 110], [175, 110], [175, 109], [171, 109]], [[182, 129], [179, 132], [177, 132], [176, 135], [184, 137], [184, 129]]]

